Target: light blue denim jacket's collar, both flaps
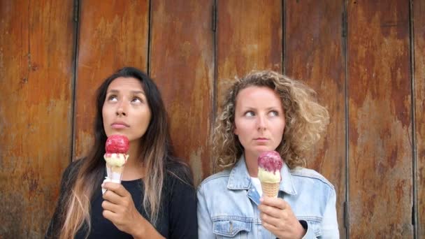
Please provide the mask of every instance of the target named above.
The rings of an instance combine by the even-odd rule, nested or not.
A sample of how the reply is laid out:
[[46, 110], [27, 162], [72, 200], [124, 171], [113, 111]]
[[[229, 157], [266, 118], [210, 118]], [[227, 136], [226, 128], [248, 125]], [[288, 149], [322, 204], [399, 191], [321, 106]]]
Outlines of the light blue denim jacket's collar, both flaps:
[[[280, 170], [280, 175], [282, 175], [282, 181], [280, 182], [279, 190], [284, 191], [287, 194], [295, 195], [296, 190], [287, 164], [283, 164], [282, 169]], [[245, 157], [242, 155], [230, 172], [227, 188], [231, 190], [240, 190], [250, 189], [250, 187], [251, 177], [245, 164]]]

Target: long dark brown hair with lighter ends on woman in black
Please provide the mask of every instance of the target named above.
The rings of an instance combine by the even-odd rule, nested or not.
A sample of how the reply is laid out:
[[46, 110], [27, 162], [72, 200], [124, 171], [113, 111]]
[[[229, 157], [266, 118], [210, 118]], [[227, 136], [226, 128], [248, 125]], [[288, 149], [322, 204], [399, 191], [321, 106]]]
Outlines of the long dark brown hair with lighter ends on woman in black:
[[[147, 130], [141, 138], [141, 154], [137, 158], [146, 169], [146, 176], [142, 179], [145, 186], [143, 207], [150, 217], [149, 221], [152, 224], [157, 221], [161, 191], [164, 187], [164, 178], [168, 165], [182, 166], [178, 167], [180, 173], [177, 174], [184, 175], [183, 180], [193, 184], [189, 167], [173, 156], [167, 114], [157, 85], [147, 74], [137, 68], [122, 68], [110, 75], [97, 89], [94, 147], [92, 147], [87, 157], [81, 161], [79, 170], [75, 172], [74, 177], [71, 177], [74, 179], [71, 183], [69, 196], [64, 201], [60, 238], [74, 238], [75, 233], [84, 224], [88, 229], [87, 236], [90, 231], [90, 201], [94, 196], [94, 192], [100, 189], [99, 178], [103, 177], [105, 170], [103, 154], [105, 154], [104, 146], [107, 136], [103, 129], [102, 107], [106, 99], [108, 86], [113, 80], [120, 77], [140, 80], [152, 113], [149, 126], [147, 126]], [[171, 173], [176, 175], [175, 171]]]

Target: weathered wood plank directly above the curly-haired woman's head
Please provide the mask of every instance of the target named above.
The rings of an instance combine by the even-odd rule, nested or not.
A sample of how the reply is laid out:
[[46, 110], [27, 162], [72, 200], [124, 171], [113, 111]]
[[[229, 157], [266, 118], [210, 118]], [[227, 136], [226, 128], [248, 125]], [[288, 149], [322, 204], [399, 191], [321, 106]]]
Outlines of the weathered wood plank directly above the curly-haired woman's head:
[[281, 14], [282, 1], [218, 1], [217, 106], [235, 77], [252, 70], [282, 72]]

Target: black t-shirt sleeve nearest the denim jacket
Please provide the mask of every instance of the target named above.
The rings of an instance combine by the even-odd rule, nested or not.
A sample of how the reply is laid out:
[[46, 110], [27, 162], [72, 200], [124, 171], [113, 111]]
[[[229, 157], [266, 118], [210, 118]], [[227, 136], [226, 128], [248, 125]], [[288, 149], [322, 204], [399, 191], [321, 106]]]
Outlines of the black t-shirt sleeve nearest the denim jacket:
[[192, 184], [171, 176], [173, 187], [169, 201], [170, 239], [198, 238], [198, 218], [196, 216], [196, 191]]

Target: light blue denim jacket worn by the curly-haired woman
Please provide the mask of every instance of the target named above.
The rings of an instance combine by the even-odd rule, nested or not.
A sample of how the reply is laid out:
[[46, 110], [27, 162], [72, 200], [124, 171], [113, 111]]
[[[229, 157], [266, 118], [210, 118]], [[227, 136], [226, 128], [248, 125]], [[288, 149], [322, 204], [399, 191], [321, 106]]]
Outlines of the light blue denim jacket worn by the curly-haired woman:
[[[307, 223], [304, 238], [339, 238], [333, 185], [307, 168], [284, 164], [280, 173], [278, 196]], [[276, 238], [261, 226], [259, 198], [244, 157], [231, 170], [206, 178], [198, 189], [199, 238]]]

